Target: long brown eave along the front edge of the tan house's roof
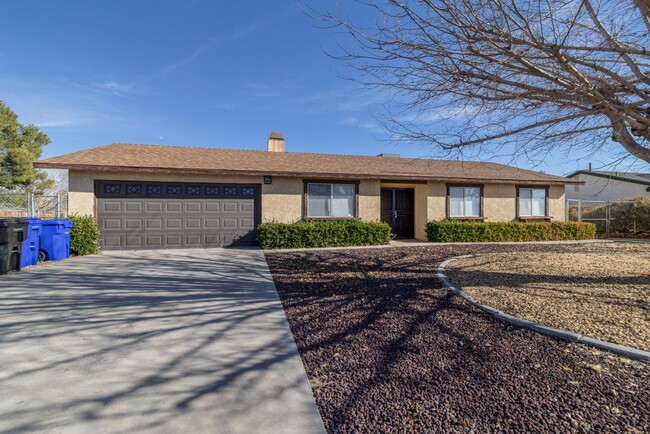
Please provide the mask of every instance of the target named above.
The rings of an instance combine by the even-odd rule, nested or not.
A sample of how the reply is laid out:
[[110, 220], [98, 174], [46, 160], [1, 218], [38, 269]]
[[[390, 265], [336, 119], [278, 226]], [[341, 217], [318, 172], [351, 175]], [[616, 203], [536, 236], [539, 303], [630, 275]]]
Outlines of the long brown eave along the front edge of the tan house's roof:
[[529, 184], [529, 185], [565, 185], [565, 184], [584, 184], [582, 181], [575, 181], [567, 178], [557, 179], [526, 179], [526, 178], [471, 178], [471, 177], [452, 177], [452, 176], [433, 176], [412, 174], [359, 174], [359, 173], [314, 173], [314, 172], [297, 172], [297, 171], [266, 171], [266, 170], [229, 170], [229, 169], [180, 169], [165, 167], [139, 167], [139, 166], [107, 166], [93, 164], [67, 164], [52, 163], [47, 161], [37, 161], [34, 167], [39, 169], [67, 169], [80, 171], [97, 171], [97, 172], [137, 172], [137, 173], [185, 173], [190, 175], [249, 175], [249, 176], [286, 176], [293, 178], [331, 178], [331, 179], [373, 179], [387, 181], [409, 181], [419, 179], [424, 181], [440, 182], [474, 182], [474, 183], [493, 183], [493, 184]]

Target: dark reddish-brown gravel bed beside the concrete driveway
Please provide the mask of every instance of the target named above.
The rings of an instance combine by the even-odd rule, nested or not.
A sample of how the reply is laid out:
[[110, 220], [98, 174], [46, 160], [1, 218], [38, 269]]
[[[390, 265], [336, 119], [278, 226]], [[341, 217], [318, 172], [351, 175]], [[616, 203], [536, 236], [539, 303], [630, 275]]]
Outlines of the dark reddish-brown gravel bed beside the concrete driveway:
[[456, 255], [584, 248], [435, 246], [267, 260], [329, 432], [649, 432], [649, 364], [500, 323], [435, 278]]

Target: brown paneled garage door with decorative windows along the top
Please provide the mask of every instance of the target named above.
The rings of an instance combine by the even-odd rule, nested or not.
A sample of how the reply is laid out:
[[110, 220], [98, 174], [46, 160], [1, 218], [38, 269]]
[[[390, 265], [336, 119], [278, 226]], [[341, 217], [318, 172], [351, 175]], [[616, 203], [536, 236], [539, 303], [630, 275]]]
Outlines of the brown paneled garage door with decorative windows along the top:
[[254, 244], [260, 190], [259, 184], [97, 181], [102, 248]]

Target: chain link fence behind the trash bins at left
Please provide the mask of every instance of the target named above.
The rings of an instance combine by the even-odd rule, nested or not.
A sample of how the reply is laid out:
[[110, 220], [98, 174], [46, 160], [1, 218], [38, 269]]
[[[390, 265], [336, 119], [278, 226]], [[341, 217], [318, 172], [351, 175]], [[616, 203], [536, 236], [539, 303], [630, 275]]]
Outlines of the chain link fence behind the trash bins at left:
[[67, 193], [35, 195], [0, 192], [0, 217], [60, 218], [67, 215]]

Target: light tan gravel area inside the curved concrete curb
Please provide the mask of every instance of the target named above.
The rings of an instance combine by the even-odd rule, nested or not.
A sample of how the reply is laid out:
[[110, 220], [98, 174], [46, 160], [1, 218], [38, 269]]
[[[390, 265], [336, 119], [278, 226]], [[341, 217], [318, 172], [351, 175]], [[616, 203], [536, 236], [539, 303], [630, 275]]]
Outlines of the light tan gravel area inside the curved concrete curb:
[[650, 244], [459, 259], [447, 275], [510, 315], [650, 350]]

